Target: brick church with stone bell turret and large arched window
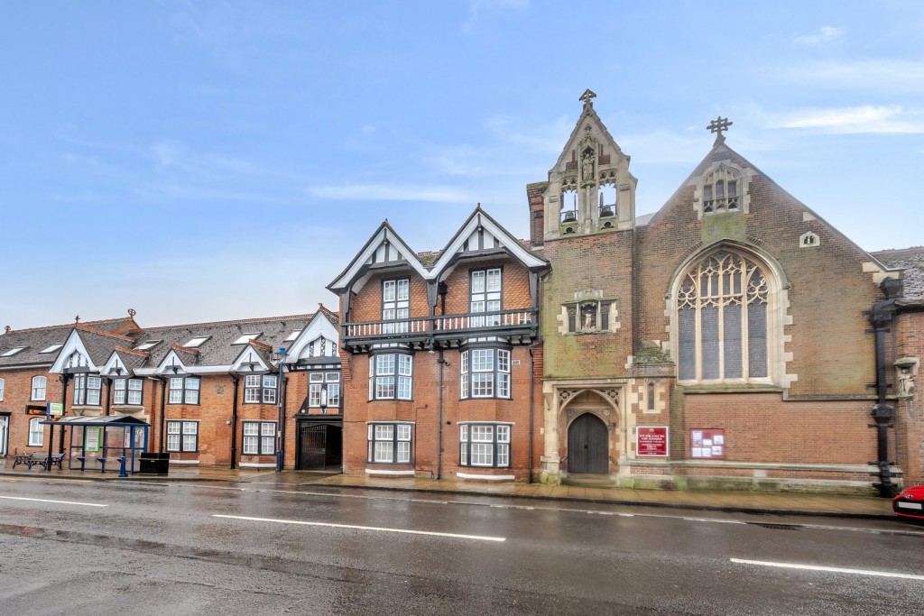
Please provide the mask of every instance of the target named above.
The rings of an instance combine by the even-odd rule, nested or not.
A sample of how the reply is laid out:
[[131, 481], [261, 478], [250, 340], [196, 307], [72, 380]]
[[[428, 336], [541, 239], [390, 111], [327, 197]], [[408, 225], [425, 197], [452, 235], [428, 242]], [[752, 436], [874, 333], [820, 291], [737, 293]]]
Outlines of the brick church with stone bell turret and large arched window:
[[[883, 339], [877, 356], [870, 314], [901, 272], [732, 150], [722, 118], [674, 196], [637, 217], [628, 156], [592, 98], [527, 189], [532, 246], [551, 264], [542, 479], [891, 489], [895, 349]], [[874, 408], [883, 429], [869, 428]]]

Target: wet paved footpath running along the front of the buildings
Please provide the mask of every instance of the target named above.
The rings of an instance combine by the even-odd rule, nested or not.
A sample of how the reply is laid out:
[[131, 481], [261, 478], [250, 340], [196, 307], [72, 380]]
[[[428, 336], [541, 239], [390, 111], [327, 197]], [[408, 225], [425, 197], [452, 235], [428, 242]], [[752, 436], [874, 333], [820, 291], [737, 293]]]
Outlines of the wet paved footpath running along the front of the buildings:
[[624, 489], [580, 486], [549, 486], [540, 483], [459, 481], [456, 479], [426, 479], [416, 477], [381, 478], [340, 475], [314, 471], [273, 469], [199, 468], [171, 465], [166, 477], [118, 477], [118, 469], [46, 471], [36, 465], [28, 468], [17, 465], [12, 458], [0, 459], [0, 477], [55, 477], [82, 480], [142, 480], [142, 481], [210, 481], [228, 483], [267, 483], [280, 489], [293, 486], [328, 486], [344, 489], [418, 490], [431, 493], [470, 494], [484, 496], [519, 497], [550, 501], [590, 501], [646, 507], [675, 507], [736, 513], [770, 513], [791, 515], [820, 515], [868, 519], [895, 519], [892, 501], [876, 497], [833, 494], [800, 494], [753, 491], [701, 491], [665, 489]]

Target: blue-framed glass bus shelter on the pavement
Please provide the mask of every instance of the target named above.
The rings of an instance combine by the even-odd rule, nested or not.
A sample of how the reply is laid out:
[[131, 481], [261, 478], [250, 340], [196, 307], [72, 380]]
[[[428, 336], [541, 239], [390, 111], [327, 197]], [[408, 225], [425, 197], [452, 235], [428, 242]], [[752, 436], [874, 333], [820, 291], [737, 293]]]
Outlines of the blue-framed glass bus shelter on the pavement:
[[[120, 477], [139, 470], [140, 454], [148, 450], [151, 424], [128, 415], [62, 417], [42, 422], [51, 427], [70, 428], [67, 468], [69, 470], [118, 470]], [[49, 452], [51, 455], [51, 452]], [[50, 465], [49, 465], [50, 467]]]

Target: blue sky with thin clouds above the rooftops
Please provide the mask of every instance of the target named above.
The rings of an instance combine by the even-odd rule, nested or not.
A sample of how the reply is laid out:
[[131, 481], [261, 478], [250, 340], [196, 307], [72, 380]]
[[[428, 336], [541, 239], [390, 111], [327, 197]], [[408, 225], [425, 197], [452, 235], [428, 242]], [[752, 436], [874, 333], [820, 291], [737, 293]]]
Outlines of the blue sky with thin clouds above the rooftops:
[[0, 327], [336, 306], [387, 218], [528, 235], [595, 109], [656, 211], [728, 144], [860, 247], [921, 239], [924, 3], [0, 2]]

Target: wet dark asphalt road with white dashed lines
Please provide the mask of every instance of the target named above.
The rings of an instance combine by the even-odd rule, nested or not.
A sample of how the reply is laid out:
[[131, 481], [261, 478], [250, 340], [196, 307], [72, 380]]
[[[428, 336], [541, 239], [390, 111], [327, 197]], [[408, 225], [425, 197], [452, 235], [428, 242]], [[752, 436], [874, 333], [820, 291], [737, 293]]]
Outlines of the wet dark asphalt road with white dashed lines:
[[0, 478], [0, 614], [913, 614], [924, 526]]

